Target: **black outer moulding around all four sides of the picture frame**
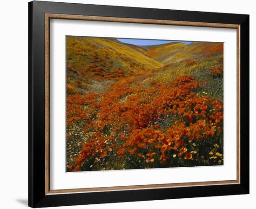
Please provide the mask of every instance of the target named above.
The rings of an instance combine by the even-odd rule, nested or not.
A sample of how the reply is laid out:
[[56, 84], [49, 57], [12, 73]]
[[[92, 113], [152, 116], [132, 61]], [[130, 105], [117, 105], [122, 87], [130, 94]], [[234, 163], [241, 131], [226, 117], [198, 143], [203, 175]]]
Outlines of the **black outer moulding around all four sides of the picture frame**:
[[[41, 46], [45, 43], [45, 36], [41, 37], [40, 33], [44, 31], [44, 27], [42, 28], [42, 24], [44, 23], [45, 13], [51, 12], [62, 12], [67, 11], [67, 6], [72, 5], [72, 8], [79, 7], [79, 4], [67, 4], [67, 3], [58, 3], [58, 2], [40, 2], [34, 1], [28, 3], [28, 156], [29, 156], [29, 166], [28, 166], [28, 205], [30, 207], [49, 207], [49, 206], [64, 206], [64, 205], [81, 205], [81, 204], [95, 204], [95, 203], [107, 203], [107, 202], [128, 202], [128, 201], [145, 201], [145, 200], [157, 200], [157, 199], [172, 199], [172, 198], [186, 198], [186, 197], [197, 197], [197, 196], [222, 196], [222, 195], [235, 195], [235, 194], [248, 194], [249, 193], [249, 15], [240, 15], [240, 14], [225, 14], [225, 13], [212, 13], [216, 14], [218, 18], [216, 22], [223, 22], [220, 20], [220, 17], [223, 15], [227, 15], [228, 20], [224, 20], [226, 22], [236, 22], [241, 25], [241, 92], [243, 92], [243, 97], [241, 97], [241, 136], [243, 139], [241, 142], [241, 184], [238, 185], [228, 185], [227, 186], [206, 186], [205, 191], [202, 193], [202, 189], [198, 190], [193, 188], [184, 188], [184, 189], [156, 189], [152, 191], [152, 189], [146, 189], [144, 191], [134, 190], [134, 191], [113, 191], [113, 192], [103, 192], [98, 193], [73, 193], [73, 194], [61, 194], [61, 195], [45, 195], [45, 181], [43, 183], [41, 180], [45, 180], [45, 172], [41, 173], [42, 167], [45, 168], [45, 154], [42, 155], [42, 149], [45, 150], [45, 147], [42, 148], [43, 142], [42, 138], [45, 138], [45, 134], [42, 131], [45, 131], [45, 126], [43, 128], [40, 125], [45, 124], [45, 119], [40, 118], [40, 116], [45, 116], [45, 111], [41, 112], [42, 109], [45, 108], [45, 103], [41, 104], [42, 98], [45, 98], [45, 89], [41, 89], [42, 82], [45, 81], [45, 70], [40, 72], [42, 68], [45, 66], [43, 61], [40, 61], [42, 57], [45, 57], [43, 53], [45, 46], [41, 49]], [[61, 6], [58, 8], [57, 6]], [[97, 6], [97, 5], [85, 5], [83, 8], [93, 8], [93, 12], [96, 15], [99, 15], [99, 11], [96, 12], [96, 8], [110, 8], [110, 11], [104, 11], [104, 13], [111, 13], [115, 17], [120, 17], [120, 13], [114, 14], [118, 7], [115, 6]], [[131, 11], [134, 10], [141, 11], [154, 11], [154, 9], [149, 8], [135, 8], [135, 7], [120, 7], [121, 10]], [[112, 11], [111, 11], [112, 10]], [[156, 9], [157, 10], [157, 9]], [[155, 10], [155, 11], [156, 11]], [[71, 10], [68, 10], [71, 11]], [[69, 13], [67, 11], [67, 13]], [[163, 11], [161, 9], [157, 10], [158, 12]], [[79, 10], [81, 12], [81, 9]], [[127, 12], [127, 11], [126, 11]], [[166, 11], [164, 11], [166, 13]], [[174, 13], [181, 13], [182, 11], [174, 11]], [[191, 14], [196, 13], [192, 11], [183, 11], [187, 12], [185, 15], [185, 19], [191, 16]], [[72, 13], [72, 12], [71, 12]], [[82, 13], [86, 13], [83, 11]], [[90, 12], [88, 12], [90, 13]], [[154, 12], [155, 13], [155, 12]], [[210, 13], [204, 13], [204, 15]], [[90, 15], [90, 14], [88, 14]], [[127, 13], [126, 13], [127, 15]], [[144, 14], [142, 16], [147, 16], [148, 14]], [[199, 13], [198, 13], [199, 15]], [[138, 16], [138, 15], [134, 15]], [[161, 15], [160, 15], [161, 16]], [[199, 19], [203, 17], [203, 13], [200, 13]], [[236, 20], [231, 20], [231, 17], [235, 17]], [[137, 17], [134, 17], [137, 18]], [[171, 19], [171, 16], [169, 17]], [[179, 17], [177, 17], [179, 19]], [[36, 20], [36, 21], [34, 21]], [[184, 21], [184, 20], [181, 20]], [[43, 33], [45, 34], [45, 33]], [[37, 39], [36, 41], [34, 39]], [[243, 46], [244, 44], [244, 46]], [[40, 46], [40, 47], [39, 47]], [[243, 53], [244, 52], [244, 53]], [[42, 56], [44, 55], [44, 56]], [[243, 60], [243, 61], [242, 61]], [[43, 78], [40, 76], [43, 75]], [[44, 86], [43, 86], [44, 87]], [[248, 91], [247, 91], [248, 90]], [[36, 91], [36, 92], [35, 92]], [[44, 95], [42, 95], [44, 94]], [[38, 107], [38, 104], [39, 107]], [[245, 109], [242, 109], [245, 108]], [[45, 109], [44, 109], [45, 110]], [[242, 112], [243, 110], [243, 112]], [[36, 120], [34, 120], [34, 118]], [[39, 121], [40, 120], [40, 121]], [[241, 124], [242, 124], [241, 123]], [[43, 129], [43, 130], [42, 130]], [[243, 133], [242, 133], [243, 131]], [[39, 149], [40, 148], [40, 149]], [[35, 150], [35, 152], [33, 151]], [[37, 161], [35, 163], [34, 161]], [[39, 164], [38, 164], [39, 163]], [[45, 170], [44, 170], [45, 171]], [[43, 188], [42, 188], [43, 187]], [[208, 189], [207, 189], [208, 188]], [[233, 189], [232, 189], [233, 188]], [[158, 193], [159, 191], [159, 193]], [[163, 193], [166, 191], [167, 193]], [[177, 193], [173, 193], [173, 192]], [[185, 193], [183, 194], [184, 191]], [[188, 194], [188, 191], [194, 191], [192, 194]], [[158, 193], [158, 194], [157, 194]], [[172, 194], [170, 194], [172, 193]], [[162, 196], [161, 196], [162, 194]], [[114, 196], [113, 196], [114, 195]], [[128, 196], [127, 196], [128, 195]], [[131, 196], [129, 196], [131, 195]], [[97, 197], [95, 199], [90, 199], [90, 197]], [[102, 199], [99, 199], [101, 197]]]

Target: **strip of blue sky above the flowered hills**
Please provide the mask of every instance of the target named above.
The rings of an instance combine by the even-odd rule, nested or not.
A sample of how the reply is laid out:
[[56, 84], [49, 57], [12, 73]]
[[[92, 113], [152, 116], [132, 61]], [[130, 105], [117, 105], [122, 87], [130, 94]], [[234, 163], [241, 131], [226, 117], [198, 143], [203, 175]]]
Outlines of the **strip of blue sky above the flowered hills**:
[[147, 46], [147, 45], [158, 45], [167, 44], [172, 42], [180, 42], [185, 44], [190, 44], [192, 41], [168, 41], [168, 40], [149, 40], [149, 39], [117, 39], [123, 43], [134, 44], [137, 46]]

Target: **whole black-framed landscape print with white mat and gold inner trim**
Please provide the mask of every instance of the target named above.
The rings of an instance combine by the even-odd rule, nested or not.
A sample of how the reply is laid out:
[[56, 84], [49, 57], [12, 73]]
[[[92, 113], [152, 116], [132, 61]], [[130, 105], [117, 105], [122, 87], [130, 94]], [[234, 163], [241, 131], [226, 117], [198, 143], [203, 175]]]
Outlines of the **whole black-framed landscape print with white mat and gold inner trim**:
[[249, 15], [28, 11], [30, 207], [249, 194]]

